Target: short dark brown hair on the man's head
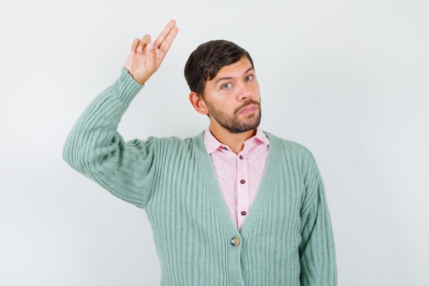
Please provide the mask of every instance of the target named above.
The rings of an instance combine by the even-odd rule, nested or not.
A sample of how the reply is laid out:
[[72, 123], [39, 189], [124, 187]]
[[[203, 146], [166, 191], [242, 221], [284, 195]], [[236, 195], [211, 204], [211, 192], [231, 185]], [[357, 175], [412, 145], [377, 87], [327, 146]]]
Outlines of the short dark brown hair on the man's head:
[[252, 67], [249, 53], [229, 40], [209, 40], [191, 53], [186, 61], [184, 75], [191, 91], [203, 97], [206, 81], [212, 80], [223, 66], [228, 66], [246, 57]]

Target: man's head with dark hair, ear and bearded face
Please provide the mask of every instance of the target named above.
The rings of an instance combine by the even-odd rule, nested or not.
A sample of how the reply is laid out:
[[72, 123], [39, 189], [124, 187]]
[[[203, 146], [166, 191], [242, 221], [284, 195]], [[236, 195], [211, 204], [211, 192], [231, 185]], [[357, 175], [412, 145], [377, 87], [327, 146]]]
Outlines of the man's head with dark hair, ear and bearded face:
[[191, 53], [184, 75], [191, 89], [191, 104], [200, 114], [208, 115], [210, 125], [231, 133], [259, 126], [259, 84], [245, 49], [228, 40], [210, 40]]

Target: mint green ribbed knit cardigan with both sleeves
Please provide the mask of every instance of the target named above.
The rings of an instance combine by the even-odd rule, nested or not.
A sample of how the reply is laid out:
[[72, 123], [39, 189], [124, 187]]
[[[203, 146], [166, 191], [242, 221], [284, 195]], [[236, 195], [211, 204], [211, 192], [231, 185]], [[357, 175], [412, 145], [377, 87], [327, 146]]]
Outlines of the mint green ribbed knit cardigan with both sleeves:
[[203, 132], [124, 141], [117, 131], [143, 85], [123, 67], [69, 132], [73, 169], [147, 212], [162, 286], [334, 286], [336, 257], [325, 187], [312, 153], [269, 132], [262, 182], [237, 230]]

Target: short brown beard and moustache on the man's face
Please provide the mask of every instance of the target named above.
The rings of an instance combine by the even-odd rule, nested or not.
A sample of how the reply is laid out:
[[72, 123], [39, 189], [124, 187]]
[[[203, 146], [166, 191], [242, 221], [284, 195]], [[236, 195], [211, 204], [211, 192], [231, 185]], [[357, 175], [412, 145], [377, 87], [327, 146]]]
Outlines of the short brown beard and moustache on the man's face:
[[[259, 126], [261, 117], [260, 102], [249, 99], [243, 105], [236, 108], [232, 116], [227, 115], [222, 110], [216, 110], [212, 108], [212, 106], [207, 102], [206, 104], [209, 109], [210, 117], [213, 117], [213, 119], [215, 119], [220, 126], [228, 130], [230, 133], [243, 133], [253, 130]], [[239, 112], [251, 104], [256, 105], [256, 110], [247, 115], [240, 115]], [[243, 118], [240, 119], [239, 117]]]

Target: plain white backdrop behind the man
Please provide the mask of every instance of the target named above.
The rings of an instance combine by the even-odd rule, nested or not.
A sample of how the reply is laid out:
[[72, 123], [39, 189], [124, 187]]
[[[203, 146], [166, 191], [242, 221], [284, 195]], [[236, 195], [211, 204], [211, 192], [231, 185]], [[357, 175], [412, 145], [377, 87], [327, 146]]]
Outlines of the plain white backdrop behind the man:
[[315, 155], [339, 285], [429, 285], [428, 14], [426, 0], [2, 0], [0, 285], [159, 285], [145, 211], [71, 169], [62, 146], [132, 40], [170, 19], [179, 34], [124, 139], [204, 130], [184, 64], [232, 40], [254, 60], [262, 130]]

